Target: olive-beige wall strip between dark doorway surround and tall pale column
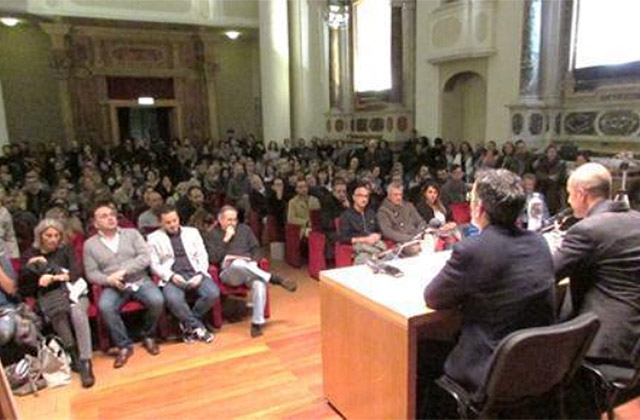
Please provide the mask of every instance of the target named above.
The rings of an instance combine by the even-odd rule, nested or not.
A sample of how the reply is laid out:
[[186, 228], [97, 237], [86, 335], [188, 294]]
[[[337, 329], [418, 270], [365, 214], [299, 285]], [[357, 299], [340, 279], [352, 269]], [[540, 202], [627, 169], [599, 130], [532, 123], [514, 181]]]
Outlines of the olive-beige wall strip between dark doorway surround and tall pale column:
[[[256, 40], [221, 40], [216, 46], [218, 70], [218, 125], [221, 135], [232, 128], [237, 134], [261, 136], [259, 119], [260, 60]], [[215, 136], [215, 133], [212, 133]]]

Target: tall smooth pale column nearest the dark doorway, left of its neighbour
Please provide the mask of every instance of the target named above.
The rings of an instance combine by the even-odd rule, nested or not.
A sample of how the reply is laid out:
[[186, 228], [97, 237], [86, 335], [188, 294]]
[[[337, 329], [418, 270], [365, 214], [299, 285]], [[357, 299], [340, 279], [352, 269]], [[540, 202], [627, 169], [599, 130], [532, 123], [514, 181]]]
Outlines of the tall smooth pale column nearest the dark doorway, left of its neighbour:
[[265, 142], [291, 137], [287, 0], [262, 0], [260, 13], [260, 86]]

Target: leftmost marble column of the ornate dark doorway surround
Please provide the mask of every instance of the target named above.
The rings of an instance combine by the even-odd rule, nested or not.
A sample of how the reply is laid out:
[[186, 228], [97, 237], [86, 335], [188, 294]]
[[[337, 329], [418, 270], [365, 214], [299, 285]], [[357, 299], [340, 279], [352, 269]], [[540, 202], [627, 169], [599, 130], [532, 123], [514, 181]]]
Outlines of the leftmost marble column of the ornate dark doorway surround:
[[69, 145], [76, 140], [73, 123], [73, 108], [71, 106], [71, 91], [69, 77], [71, 71], [71, 59], [67, 54], [65, 38], [71, 29], [71, 25], [64, 23], [41, 23], [42, 30], [49, 35], [51, 51], [49, 52], [49, 67], [55, 72], [58, 80], [58, 95], [60, 98], [60, 111], [64, 127], [64, 143]]

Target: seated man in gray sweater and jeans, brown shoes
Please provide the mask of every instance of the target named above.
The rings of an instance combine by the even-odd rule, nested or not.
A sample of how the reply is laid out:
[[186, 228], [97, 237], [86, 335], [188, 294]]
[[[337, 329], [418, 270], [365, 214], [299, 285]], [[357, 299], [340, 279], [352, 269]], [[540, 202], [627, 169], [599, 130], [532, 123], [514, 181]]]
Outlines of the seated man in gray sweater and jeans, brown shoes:
[[120, 307], [135, 299], [147, 308], [142, 345], [155, 356], [160, 352], [154, 335], [164, 298], [149, 278], [151, 258], [144, 238], [135, 229], [119, 228], [117, 215], [111, 201], [94, 206], [93, 224], [98, 233], [84, 244], [84, 268], [87, 279], [103, 287], [98, 307], [118, 348], [113, 367], [121, 368], [133, 354], [133, 344], [120, 316]]

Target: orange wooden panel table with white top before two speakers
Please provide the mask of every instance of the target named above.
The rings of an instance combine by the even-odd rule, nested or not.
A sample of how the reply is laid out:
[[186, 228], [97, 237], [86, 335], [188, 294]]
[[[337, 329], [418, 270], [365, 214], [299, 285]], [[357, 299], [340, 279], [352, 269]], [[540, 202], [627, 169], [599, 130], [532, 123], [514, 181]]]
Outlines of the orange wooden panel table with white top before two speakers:
[[400, 278], [366, 266], [320, 273], [324, 393], [344, 417], [415, 418], [418, 338], [451, 338], [459, 322], [422, 297], [449, 255], [395, 261]]

